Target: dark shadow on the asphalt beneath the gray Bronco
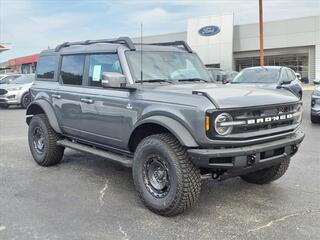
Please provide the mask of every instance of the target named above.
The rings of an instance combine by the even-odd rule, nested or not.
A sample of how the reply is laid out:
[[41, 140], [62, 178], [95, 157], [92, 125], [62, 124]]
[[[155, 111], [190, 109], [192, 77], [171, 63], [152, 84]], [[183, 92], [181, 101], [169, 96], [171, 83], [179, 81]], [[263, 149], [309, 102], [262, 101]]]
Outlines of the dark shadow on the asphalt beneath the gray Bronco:
[[[69, 166], [78, 171], [83, 179], [96, 182], [101, 188], [108, 181], [109, 189], [113, 189], [115, 193], [119, 193], [121, 189], [121, 194], [125, 195], [125, 198], [134, 199], [131, 203], [136, 207], [144, 208], [134, 189], [131, 168], [122, 167], [104, 158], [73, 150], [66, 151], [59, 166], [61, 168]], [[222, 182], [203, 179], [199, 201], [195, 208], [190, 209], [185, 214], [192, 214], [193, 217], [208, 214], [219, 215], [220, 209], [228, 212], [225, 209], [227, 207], [230, 209], [239, 208], [239, 211], [240, 209], [247, 209], [249, 212], [259, 212], [263, 209], [267, 210], [268, 207], [265, 203], [272, 201], [273, 197], [270, 198], [270, 196], [283, 198], [282, 194], [277, 183], [264, 186], [254, 185], [242, 181], [239, 177]], [[232, 214], [230, 212], [230, 215]]]

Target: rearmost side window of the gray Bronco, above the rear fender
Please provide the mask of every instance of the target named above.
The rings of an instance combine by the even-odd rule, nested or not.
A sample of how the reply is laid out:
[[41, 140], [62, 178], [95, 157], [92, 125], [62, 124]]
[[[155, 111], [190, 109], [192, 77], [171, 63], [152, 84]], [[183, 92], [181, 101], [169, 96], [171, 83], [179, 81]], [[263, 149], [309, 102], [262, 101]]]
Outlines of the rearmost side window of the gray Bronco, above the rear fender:
[[41, 56], [37, 64], [37, 78], [53, 79], [57, 56]]

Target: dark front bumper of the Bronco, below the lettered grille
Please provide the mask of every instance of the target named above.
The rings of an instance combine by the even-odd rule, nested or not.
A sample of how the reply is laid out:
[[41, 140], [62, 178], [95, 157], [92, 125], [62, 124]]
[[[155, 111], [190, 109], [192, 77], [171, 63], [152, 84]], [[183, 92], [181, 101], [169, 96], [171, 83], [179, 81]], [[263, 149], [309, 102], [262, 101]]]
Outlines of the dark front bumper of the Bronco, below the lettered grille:
[[304, 139], [304, 133], [244, 147], [219, 149], [188, 149], [191, 161], [199, 168], [249, 172], [262, 169], [293, 156]]

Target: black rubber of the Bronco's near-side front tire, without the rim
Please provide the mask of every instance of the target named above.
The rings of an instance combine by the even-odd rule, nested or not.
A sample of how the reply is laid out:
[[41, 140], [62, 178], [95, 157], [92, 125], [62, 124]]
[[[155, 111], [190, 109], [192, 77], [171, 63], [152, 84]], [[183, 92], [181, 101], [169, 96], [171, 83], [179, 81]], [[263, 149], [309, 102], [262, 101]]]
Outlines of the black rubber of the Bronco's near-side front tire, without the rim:
[[[157, 198], [147, 189], [143, 169], [150, 155], [159, 154], [168, 164], [170, 189], [166, 196]], [[169, 133], [151, 135], [143, 139], [134, 155], [133, 180], [142, 202], [162, 216], [174, 216], [190, 208], [199, 198], [200, 171], [190, 161], [186, 148]]]

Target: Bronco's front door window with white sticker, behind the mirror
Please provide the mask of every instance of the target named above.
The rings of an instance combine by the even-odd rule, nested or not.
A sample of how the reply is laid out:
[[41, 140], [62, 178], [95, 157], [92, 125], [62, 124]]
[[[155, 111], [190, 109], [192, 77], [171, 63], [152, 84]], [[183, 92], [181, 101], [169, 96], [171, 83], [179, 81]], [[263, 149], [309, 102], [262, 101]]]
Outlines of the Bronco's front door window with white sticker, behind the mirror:
[[102, 73], [122, 73], [120, 61], [116, 53], [89, 55], [89, 86], [101, 86]]

